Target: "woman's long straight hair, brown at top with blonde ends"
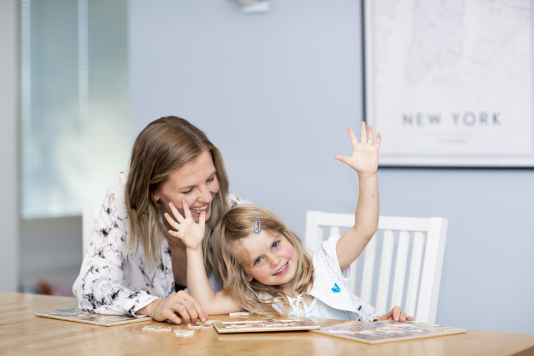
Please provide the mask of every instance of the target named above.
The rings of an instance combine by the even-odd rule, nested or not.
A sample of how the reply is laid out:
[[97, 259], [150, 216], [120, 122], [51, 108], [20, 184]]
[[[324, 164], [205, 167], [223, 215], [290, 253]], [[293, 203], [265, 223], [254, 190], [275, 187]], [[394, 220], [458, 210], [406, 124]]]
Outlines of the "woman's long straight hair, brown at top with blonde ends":
[[197, 127], [175, 116], [162, 117], [150, 122], [137, 136], [130, 159], [125, 200], [130, 232], [125, 255], [135, 256], [137, 246], [145, 247], [145, 260], [154, 267], [161, 263], [159, 249], [165, 238], [173, 243], [162, 224], [162, 206], [154, 200], [169, 175], [184, 164], [194, 162], [203, 152], [209, 152], [219, 180], [219, 192], [211, 202], [211, 216], [206, 221], [202, 242], [206, 272], [212, 271], [211, 233], [221, 216], [229, 209], [229, 182], [221, 152]]

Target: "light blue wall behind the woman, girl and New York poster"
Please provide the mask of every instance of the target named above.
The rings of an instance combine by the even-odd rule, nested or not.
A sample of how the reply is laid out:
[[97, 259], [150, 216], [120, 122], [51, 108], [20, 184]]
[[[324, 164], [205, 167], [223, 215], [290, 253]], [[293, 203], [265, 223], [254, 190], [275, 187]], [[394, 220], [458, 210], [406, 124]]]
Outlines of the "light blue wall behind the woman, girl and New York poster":
[[[301, 235], [305, 211], [350, 213], [346, 128], [362, 118], [360, 1], [130, 0], [132, 140], [178, 115], [223, 152], [231, 191]], [[387, 132], [383, 133], [387, 140]], [[449, 218], [437, 322], [534, 333], [534, 172], [379, 169], [381, 214]]]

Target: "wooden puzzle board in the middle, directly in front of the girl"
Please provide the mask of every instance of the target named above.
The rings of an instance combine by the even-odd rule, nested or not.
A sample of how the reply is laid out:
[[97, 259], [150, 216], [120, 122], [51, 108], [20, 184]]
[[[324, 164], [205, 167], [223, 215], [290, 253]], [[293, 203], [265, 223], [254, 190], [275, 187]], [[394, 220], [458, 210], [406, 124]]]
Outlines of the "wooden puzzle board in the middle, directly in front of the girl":
[[259, 319], [239, 320], [214, 323], [217, 333], [265, 333], [269, 331], [298, 331], [320, 329], [320, 326], [309, 319]]

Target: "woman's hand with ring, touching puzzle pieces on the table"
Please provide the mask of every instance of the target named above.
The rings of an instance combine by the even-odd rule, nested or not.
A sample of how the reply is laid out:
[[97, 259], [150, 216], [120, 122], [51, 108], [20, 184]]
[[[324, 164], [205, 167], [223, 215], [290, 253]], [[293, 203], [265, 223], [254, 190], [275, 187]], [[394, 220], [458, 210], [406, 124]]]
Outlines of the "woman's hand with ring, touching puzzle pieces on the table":
[[184, 318], [186, 324], [197, 323], [197, 319], [206, 323], [206, 320], [209, 319], [209, 315], [204, 313], [200, 303], [183, 290], [174, 293], [167, 299], [157, 298], [135, 313], [148, 315], [157, 321], [169, 319], [177, 324], [182, 324], [180, 317]]

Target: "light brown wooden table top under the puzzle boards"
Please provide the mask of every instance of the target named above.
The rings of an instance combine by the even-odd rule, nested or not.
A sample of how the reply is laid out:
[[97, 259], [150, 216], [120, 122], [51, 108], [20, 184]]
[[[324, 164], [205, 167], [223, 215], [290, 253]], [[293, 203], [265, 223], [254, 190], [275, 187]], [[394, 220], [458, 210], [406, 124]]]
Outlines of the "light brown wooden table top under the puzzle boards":
[[[424, 340], [366, 345], [294, 331], [220, 335], [214, 329], [197, 330], [193, 337], [174, 333], [143, 332], [145, 321], [118, 326], [97, 326], [39, 318], [35, 311], [75, 308], [75, 298], [0, 293], [1, 355], [534, 355], [534, 335], [469, 330], [467, 334]], [[229, 320], [229, 315], [214, 315]], [[235, 319], [234, 319], [235, 320]], [[315, 319], [326, 326], [340, 320]], [[454, 325], [453, 325], [454, 326]], [[173, 329], [185, 328], [172, 325]]]

